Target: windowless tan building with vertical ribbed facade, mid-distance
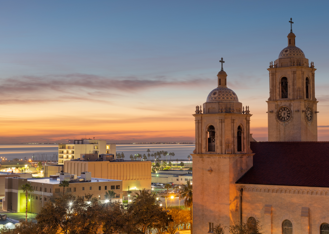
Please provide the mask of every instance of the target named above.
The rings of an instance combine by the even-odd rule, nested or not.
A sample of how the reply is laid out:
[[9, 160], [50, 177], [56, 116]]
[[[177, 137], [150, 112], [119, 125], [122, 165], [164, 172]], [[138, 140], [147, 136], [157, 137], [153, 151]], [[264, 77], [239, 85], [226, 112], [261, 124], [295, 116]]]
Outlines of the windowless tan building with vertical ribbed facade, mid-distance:
[[151, 189], [150, 161], [65, 161], [64, 172], [80, 176], [89, 171], [95, 178], [121, 180], [122, 190]]

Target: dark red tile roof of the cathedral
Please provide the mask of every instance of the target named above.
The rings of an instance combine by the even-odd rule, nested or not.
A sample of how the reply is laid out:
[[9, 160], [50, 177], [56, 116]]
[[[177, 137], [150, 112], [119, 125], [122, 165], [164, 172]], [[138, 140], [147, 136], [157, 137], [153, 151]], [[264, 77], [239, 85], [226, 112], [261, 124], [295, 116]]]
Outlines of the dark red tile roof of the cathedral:
[[251, 167], [236, 183], [329, 187], [329, 142], [250, 142]]

